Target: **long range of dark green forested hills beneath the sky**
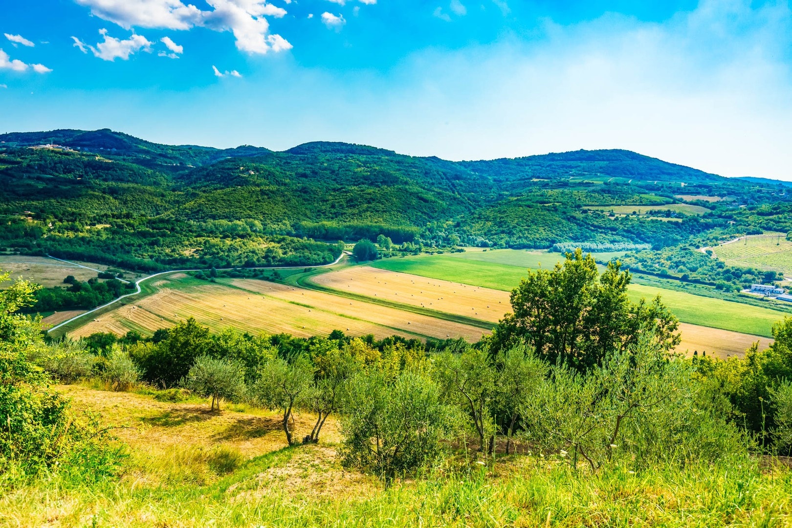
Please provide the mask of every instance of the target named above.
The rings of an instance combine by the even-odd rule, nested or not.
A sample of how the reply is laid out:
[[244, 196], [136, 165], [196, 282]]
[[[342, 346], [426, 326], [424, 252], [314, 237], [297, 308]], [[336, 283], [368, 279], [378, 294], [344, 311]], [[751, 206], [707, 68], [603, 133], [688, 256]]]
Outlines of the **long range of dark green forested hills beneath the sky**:
[[[28, 148], [52, 143], [65, 148]], [[337, 241], [380, 234], [407, 252], [665, 247], [786, 229], [786, 201], [777, 187], [626, 150], [454, 162], [339, 142], [274, 152], [107, 129], [0, 135], [0, 250], [131, 268], [320, 264]]]

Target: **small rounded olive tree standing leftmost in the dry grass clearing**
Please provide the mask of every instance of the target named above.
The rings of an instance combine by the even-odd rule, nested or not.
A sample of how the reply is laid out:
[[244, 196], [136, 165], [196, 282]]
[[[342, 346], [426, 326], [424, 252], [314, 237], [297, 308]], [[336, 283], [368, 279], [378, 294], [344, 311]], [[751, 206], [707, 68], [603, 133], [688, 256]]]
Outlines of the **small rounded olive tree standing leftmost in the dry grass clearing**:
[[211, 397], [211, 410], [219, 411], [221, 400], [238, 401], [245, 394], [245, 367], [238, 361], [201, 355], [182, 385], [200, 396]]

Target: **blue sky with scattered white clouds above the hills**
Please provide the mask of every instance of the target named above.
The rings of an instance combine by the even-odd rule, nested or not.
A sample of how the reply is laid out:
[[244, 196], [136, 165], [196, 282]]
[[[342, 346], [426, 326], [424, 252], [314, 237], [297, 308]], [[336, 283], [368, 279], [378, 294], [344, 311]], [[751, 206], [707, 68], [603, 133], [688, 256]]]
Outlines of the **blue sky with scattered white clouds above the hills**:
[[625, 148], [792, 180], [788, 2], [4, 0], [0, 13], [0, 132], [447, 159]]

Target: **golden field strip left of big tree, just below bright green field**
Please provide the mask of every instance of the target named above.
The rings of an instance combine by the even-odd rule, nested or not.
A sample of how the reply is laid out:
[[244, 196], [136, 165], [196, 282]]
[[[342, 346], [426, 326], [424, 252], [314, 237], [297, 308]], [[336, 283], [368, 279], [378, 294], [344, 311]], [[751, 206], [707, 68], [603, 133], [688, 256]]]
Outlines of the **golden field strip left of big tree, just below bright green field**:
[[431, 310], [497, 323], [511, 311], [508, 291], [428, 279], [408, 273], [356, 266], [323, 273], [311, 279], [320, 286], [383, 298]]

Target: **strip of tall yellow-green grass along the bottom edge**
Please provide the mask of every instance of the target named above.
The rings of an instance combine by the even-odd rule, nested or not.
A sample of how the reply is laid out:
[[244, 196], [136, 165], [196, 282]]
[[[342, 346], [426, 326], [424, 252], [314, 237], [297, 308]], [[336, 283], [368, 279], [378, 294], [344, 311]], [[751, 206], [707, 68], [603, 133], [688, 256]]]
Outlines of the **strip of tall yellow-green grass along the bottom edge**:
[[[366, 497], [322, 496], [262, 485], [291, 448], [253, 459], [211, 484], [88, 487], [52, 479], [0, 498], [5, 526], [790, 526], [792, 475], [756, 459], [657, 465], [631, 473], [608, 465], [573, 473], [543, 458], [444, 473]], [[175, 461], [174, 461], [175, 462]], [[182, 461], [184, 462], [184, 461]], [[476, 466], [478, 467], [478, 466]]]

